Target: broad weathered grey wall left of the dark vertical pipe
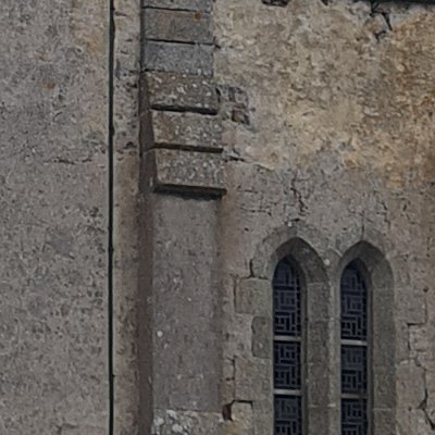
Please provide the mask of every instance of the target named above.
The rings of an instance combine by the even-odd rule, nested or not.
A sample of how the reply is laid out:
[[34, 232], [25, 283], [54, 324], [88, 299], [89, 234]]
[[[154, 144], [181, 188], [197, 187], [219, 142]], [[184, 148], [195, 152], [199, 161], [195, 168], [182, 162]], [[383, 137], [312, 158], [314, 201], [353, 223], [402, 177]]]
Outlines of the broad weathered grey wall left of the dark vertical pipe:
[[104, 435], [108, 5], [0, 16], [0, 433]]

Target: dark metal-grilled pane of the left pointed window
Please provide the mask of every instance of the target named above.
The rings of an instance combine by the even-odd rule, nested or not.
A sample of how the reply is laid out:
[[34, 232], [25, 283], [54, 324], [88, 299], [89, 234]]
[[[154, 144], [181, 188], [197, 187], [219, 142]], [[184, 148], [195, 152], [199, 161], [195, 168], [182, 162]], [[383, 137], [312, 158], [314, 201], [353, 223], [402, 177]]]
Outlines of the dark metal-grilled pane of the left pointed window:
[[275, 435], [302, 435], [301, 288], [288, 259], [273, 277]]

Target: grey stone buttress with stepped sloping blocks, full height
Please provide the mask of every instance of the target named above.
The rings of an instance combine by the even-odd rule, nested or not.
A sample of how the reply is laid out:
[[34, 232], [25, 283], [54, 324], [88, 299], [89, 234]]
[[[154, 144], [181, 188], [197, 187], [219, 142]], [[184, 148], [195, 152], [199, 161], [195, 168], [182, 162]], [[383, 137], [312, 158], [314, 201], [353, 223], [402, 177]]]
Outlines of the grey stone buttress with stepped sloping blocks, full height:
[[217, 210], [225, 173], [211, 5], [148, 0], [144, 8], [139, 371], [149, 414], [144, 434], [198, 424], [214, 434], [222, 423]]

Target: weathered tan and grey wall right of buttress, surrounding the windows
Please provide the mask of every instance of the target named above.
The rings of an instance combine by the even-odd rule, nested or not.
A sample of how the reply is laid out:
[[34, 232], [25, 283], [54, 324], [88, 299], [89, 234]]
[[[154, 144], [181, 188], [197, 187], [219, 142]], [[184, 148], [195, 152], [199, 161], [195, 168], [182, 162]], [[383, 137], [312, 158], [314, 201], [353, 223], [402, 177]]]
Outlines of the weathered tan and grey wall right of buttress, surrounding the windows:
[[[391, 415], [394, 402], [378, 403], [375, 433], [425, 435], [435, 422], [435, 7], [324, 3], [215, 2], [227, 160], [223, 401], [251, 403], [251, 430], [271, 433], [271, 353], [261, 350], [272, 336], [270, 311], [261, 309], [271, 276], [258, 270], [268, 260], [259, 250], [273, 253], [286, 237], [302, 237], [336, 284], [338, 259], [363, 240], [393, 269], [388, 310], [396, 310], [396, 382], [374, 388], [376, 397], [396, 389], [397, 408]], [[334, 349], [325, 358], [338, 361]], [[339, 377], [331, 375], [323, 427], [338, 433]], [[396, 427], [382, 427], [391, 421]]]

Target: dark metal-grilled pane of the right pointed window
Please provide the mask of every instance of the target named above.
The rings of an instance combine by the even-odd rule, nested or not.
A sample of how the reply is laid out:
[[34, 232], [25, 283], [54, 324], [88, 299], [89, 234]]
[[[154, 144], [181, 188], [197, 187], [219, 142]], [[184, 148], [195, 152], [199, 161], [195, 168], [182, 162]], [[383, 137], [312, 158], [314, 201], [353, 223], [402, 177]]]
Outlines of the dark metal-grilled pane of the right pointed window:
[[341, 435], [368, 434], [368, 290], [351, 262], [341, 276]]

